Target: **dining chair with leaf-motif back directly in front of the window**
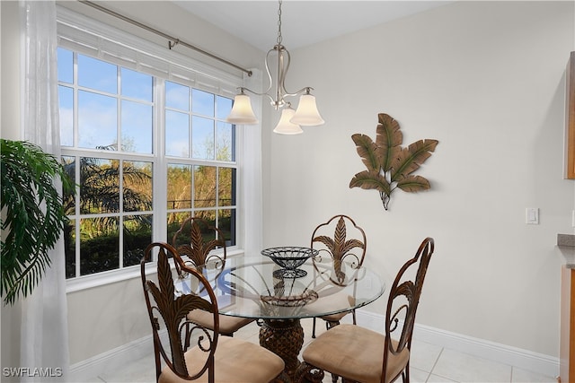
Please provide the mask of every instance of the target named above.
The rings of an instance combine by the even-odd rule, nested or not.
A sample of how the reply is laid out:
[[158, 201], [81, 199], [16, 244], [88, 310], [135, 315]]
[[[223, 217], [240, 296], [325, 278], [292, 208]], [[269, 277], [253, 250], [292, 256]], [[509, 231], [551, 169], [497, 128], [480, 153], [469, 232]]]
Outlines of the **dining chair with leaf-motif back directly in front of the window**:
[[[222, 231], [207, 220], [200, 217], [189, 217], [181, 223], [181, 227], [173, 234], [172, 246], [178, 250], [181, 262], [201, 270], [209, 261], [219, 261], [221, 266], [226, 263], [226, 239]], [[221, 252], [213, 252], [221, 250]], [[181, 256], [187, 257], [183, 260]], [[175, 262], [176, 271], [181, 280], [186, 274], [179, 267], [181, 262]], [[223, 268], [223, 267], [222, 267]], [[192, 310], [188, 314], [191, 322], [213, 328], [212, 316], [202, 310]], [[234, 333], [255, 319], [237, 318], [227, 315], [219, 316], [219, 331], [222, 335], [234, 336]]]

